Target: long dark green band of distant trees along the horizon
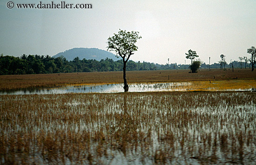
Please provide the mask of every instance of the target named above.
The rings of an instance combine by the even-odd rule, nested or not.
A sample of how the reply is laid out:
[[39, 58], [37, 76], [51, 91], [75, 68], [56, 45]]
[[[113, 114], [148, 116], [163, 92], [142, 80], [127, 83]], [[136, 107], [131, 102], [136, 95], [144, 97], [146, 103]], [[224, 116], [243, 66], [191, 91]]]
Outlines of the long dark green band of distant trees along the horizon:
[[[234, 68], [250, 67], [249, 63], [233, 61]], [[210, 65], [210, 69], [220, 68], [220, 63]], [[70, 72], [93, 72], [93, 71], [121, 71], [122, 60], [114, 61], [106, 58], [101, 61], [93, 59], [79, 59], [75, 57], [68, 61], [65, 57], [50, 57], [40, 55], [25, 55], [21, 57], [0, 55], [0, 75], [24, 75], [24, 74], [45, 74], [45, 73], [70, 73]], [[226, 69], [231, 68], [231, 63], [225, 65]], [[126, 70], [173, 70], [189, 69], [189, 64], [155, 64], [148, 62], [134, 62], [129, 60]], [[209, 64], [202, 63], [201, 69], [209, 69]]]

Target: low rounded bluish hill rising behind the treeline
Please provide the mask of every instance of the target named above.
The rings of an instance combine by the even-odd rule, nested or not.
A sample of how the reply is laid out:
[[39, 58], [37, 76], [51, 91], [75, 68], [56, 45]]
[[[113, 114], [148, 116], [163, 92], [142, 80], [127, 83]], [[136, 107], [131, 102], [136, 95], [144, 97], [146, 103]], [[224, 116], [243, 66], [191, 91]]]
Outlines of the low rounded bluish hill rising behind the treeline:
[[107, 57], [117, 61], [118, 58], [115, 57], [113, 53], [108, 51], [104, 51], [97, 48], [73, 48], [67, 51], [60, 52], [53, 56], [54, 58], [63, 56], [68, 61], [72, 61], [75, 57], [79, 57], [80, 59], [95, 59], [97, 61], [101, 61], [101, 59], [106, 59]]

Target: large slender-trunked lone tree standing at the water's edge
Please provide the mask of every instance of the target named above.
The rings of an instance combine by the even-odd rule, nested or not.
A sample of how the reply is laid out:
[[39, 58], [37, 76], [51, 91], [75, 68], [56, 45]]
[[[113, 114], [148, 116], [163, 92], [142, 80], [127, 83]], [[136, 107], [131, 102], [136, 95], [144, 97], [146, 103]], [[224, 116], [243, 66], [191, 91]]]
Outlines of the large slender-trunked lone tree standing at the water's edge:
[[126, 30], [119, 29], [118, 34], [114, 33], [114, 36], [108, 38], [108, 51], [115, 51], [116, 57], [122, 57], [123, 60], [123, 81], [124, 92], [128, 92], [129, 86], [126, 80], [126, 63], [130, 56], [137, 51], [138, 47], [135, 45], [138, 39], [140, 39], [139, 32], [126, 32]]

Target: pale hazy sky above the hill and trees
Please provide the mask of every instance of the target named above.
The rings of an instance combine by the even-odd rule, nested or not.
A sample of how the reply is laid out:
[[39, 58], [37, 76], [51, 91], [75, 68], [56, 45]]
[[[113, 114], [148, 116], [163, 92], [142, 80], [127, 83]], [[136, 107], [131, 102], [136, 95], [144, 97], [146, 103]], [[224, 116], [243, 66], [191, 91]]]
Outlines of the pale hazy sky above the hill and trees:
[[[66, 0], [92, 9], [18, 9], [0, 0], [0, 53], [50, 55], [75, 47], [107, 50], [119, 29], [140, 32], [134, 61], [190, 63], [189, 49], [209, 63], [247, 56], [256, 46], [256, 0]], [[114, 53], [114, 52], [113, 52]]]

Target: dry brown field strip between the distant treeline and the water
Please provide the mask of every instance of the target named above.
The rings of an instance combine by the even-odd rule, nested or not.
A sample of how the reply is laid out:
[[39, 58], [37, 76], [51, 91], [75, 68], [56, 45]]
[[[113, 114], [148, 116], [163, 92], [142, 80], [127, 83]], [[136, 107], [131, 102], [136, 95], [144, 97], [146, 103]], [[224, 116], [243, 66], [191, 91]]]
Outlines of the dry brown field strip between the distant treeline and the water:
[[[200, 70], [198, 73], [189, 73], [189, 70], [128, 71], [127, 78], [128, 83], [255, 80], [256, 72], [249, 69], [237, 69], [234, 72], [232, 70]], [[122, 72], [0, 76], [0, 91], [55, 87], [75, 83], [123, 83]]]

